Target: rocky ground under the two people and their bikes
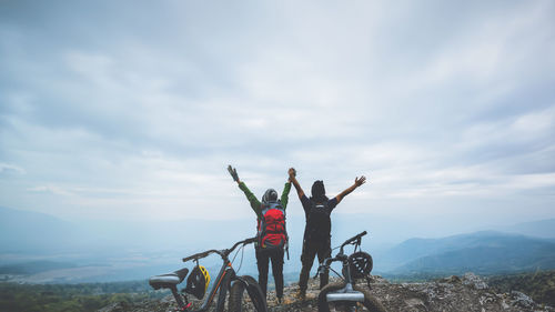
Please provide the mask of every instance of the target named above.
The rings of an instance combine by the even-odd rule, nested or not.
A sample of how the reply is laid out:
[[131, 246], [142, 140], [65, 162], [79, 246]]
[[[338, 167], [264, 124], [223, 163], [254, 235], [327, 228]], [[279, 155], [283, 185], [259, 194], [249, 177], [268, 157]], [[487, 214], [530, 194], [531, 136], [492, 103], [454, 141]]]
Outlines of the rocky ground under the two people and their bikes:
[[[333, 282], [333, 281], [332, 281]], [[367, 288], [366, 282], [361, 283]], [[483, 279], [466, 273], [464, 276], [451, 276], [425, 283], [390, 283], [381, 276], [373, 276], [370, 284], [371, 293], [387, 309], [387, 311], [555, 311], [555, 309], [535, 303], [524, 293], [495, 293]], [[296, 298], [296, 284], [284, 290], [284, 300], [278, 303], [274, 292], [268, 296], [269, 310], [272, 312], [299, 311], [316, 312], [317, 280], [311, 280], [305, 300]], [[175, 304], [173, 298], [161, 301], [144, 301], [141, 303], [114, 303], [100, 312], [170, 312]]]

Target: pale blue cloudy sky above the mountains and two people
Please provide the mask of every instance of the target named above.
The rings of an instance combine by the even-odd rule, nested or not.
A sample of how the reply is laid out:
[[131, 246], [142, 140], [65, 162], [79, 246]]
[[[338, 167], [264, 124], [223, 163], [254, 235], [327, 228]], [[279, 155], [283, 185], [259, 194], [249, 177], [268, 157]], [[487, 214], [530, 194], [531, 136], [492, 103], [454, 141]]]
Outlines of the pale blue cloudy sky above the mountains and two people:
[[551, 0], [2, 0], [0, 205], [253, 217], [231, 163], [260, 195], [289, 167], [331, 195], [365, 174], [337, 213], [555, 218], [553, 17]]

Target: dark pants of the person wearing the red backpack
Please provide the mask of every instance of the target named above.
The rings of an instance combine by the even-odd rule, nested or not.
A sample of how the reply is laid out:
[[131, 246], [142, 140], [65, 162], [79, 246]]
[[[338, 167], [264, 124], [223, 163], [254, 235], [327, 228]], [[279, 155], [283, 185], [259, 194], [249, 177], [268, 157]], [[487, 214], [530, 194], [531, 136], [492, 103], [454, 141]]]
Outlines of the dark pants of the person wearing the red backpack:
[[256, 249], [256, 266], [259, 266], [259, 284], [266, 294], [268, 288], [268, 265], [272, 260], [272, 274], [275, 282], [275, 294], [283, 296], [283, 249]]

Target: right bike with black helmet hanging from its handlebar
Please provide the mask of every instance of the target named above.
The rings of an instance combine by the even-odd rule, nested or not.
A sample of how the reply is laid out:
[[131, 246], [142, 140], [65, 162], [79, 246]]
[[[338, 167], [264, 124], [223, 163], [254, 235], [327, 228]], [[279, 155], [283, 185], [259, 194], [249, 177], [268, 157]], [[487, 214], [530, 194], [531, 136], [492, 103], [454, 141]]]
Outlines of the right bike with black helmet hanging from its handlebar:
[[[372, 271], [372, 256], [361, 250], [362, 236], [366, 235], [366, 231], [354, 235], [341, 244], [340, 252], [334, 258], [327, 258], [319, 266], [319, 273], [324, 270], [332, 270], [335, 274], [342, 278], [341, 282], [325, 285], [317, 296], [317, 311], [374, 311], [385, 312], [385, 308], [370, 294], [369, 291], [355, 285], [355, 279], [366, 278], [370, 288], [370, 272]], [[343, 249], [349, 245], [354, 245], [352, 254], [346, 255]], [[330, 268], [332, 262], [342, 262], [342, 275]], [[317, 274], [316, 274], [317, 275]]]

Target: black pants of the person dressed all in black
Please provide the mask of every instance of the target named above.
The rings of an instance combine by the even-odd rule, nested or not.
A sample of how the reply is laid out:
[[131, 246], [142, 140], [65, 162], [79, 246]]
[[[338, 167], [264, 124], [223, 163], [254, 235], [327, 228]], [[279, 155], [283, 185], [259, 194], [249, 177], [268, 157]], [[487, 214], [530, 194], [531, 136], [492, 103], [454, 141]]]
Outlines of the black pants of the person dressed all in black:
[[[306, 292], [306, 284], [309, 282], [309, 274], [314, 263], [314, 258], [317, 254], [317, 261], [322, 262], [324, 259], [330, 258], [332, 254], [332, 248], [330, 245], [330, 240], [323, 241], [304, 241], [303, 253], [301, 255], [301, 262], [303, 268], [301, 269], [301, 275], [299, 276], [299, 288], [302, 292]], [[320, 289], [327, 284], [330, 275], [330, 270], [325, 270], [320, 274]]]

